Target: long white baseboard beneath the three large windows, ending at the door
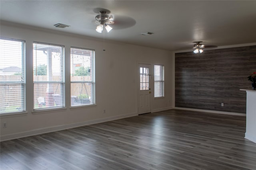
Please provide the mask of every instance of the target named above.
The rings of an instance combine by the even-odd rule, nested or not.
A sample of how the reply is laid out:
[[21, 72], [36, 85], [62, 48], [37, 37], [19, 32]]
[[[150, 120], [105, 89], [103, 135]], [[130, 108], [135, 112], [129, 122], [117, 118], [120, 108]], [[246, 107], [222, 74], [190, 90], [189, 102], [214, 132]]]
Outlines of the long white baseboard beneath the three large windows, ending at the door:
[[60, 130], [64, 130], [64, 129], [74, 128], [74, 127], [92, 125], [92, 124], [96, 124], [96, 123], [102, 123], [102, 122], [105, 122], [105, 121], [112, 121], [112, 120], [122, 119], [122, 118], [126, 118], [126, 117], [133, 117], [133, 116], [137, 116], [137, 115], [138, 115], [138, 113], [129, 113], [129, 114], [124, 114], [124, 115], [106, 117], [106, 118], [103, 118], [103, 119], [95, 119], [95, 120], [90, 120], [90, 121], [72, 123], [72, 124], [68, 124], [68, 125], [58, 125], [58, 126], [46, 127], [46, 128], [42, 128], [42, 129], [35, 129], [35, 130], [32, 130], [32, 131], [26, 131], [26, 132], [22, 132], [22, 133], [13, 133], [13, 134], [10, 134], [10, 135], [1, 136], [0, 141], [7, 141], [7, 140], [11, 140], [11, 139], [18, 139], [18, 138], [21, 138], [21, 137], [39, 135], [39, 134], [43, 134], [43, 133], [60, 131]]

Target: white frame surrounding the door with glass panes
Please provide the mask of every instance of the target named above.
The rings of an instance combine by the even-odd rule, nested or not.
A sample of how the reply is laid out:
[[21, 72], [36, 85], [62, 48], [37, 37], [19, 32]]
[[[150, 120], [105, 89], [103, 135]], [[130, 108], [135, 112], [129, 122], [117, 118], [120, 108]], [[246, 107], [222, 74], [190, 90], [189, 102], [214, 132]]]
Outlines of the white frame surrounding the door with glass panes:
[[148, 113], [152, 113], [152, 103], [153, 103], [153, 98], [154, 98], [154, 70], [153, 70], [153, 67], [152, 67], [152, 63], [150, 62], [145, 62], [145, 61], [137, 61], [136, 63], [136, 70], [137, 70], [137, 74], [136, 74], [136, 86], [137, 86], [137, 102], [136, 102], [136, 107], [137, 107], [137, 113], [138, 115], [140, 114], [144, 114], [144, 113], [139, 113], [139, 104], [140, 104], [140, 64], [148, 64], [150, 65], [149, 66], [149, 74], [151, 75], [150, 78], [149, 78], [149, 88], [150, 88], [150, 91], [151, 91], [151, 94], [150, 94], [150, 99], [149, 99], [149, 102], [150, 102], [150, 112]]

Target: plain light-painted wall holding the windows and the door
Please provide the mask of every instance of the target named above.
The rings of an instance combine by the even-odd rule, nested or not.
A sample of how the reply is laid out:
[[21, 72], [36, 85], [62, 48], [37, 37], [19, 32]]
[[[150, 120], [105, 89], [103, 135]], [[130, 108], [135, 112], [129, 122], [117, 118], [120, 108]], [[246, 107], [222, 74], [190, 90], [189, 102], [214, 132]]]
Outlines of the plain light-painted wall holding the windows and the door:
[[[1, 141], [138, 115], [137, 64], [141, 61], [165, 66], [165, 98], [152, 96], [151, 111], [174, 107], [174, 55], [170, 51], [110, 42], [105, 42], [103, 51], [103, 43], [97, 39], [6, 23], [0, 29], [1, 37], [26, 42], [27, 107], [27, 113], [1, 115]], [[65, 46], [66, 109], [33, 113], [33, 41]], [[70, 108], [70, 46], [95, 49], [96, 106]], [[6, 128], [2, 128], [3, 122], [7, 123]]]

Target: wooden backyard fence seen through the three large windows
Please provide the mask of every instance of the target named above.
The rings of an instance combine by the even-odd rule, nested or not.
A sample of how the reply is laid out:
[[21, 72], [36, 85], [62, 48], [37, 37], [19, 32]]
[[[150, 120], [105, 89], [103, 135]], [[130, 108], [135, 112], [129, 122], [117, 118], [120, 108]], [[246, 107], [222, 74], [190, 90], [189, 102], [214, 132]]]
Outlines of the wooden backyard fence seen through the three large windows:
[[[3, 76], [0, 75], [0, 80], [11, 81], [18, 80], [20, 76], [8, 75]], [[90, 76], [71, 76], [72, 81], [90, 81]], [[60, 79], [59, 76], [52, 76], [52, 81], [58, 81]], [[38, 82], [44, 82], [47, 80], [47, 76], [34, 76], [34, 80]], [[26, 95], [34, 94], [34, 105], [38, 105], [38, 99], [46, 98], [49, 92], [49, 87], [52, 89], [52, 93], [56, 95], [62, 95], [61, 91], [62, 83], [34, 83], [33, 89], [26, 89]], [[91, 96], [92, 93], [92, 83], [72, 83], [71, 84], [71, 96]], [[1, 84], [0, 85], [0, 101], [2, 105], [0, 109], [5, 107], [19, 107], [22, 105], [21, 100], [17, 100], [14, 102], [14, 99], [17, 99], [17, 96], [21, 96], [22, 86], [20, 84]], [[34, 93], [36, 92], [36, 93]]]

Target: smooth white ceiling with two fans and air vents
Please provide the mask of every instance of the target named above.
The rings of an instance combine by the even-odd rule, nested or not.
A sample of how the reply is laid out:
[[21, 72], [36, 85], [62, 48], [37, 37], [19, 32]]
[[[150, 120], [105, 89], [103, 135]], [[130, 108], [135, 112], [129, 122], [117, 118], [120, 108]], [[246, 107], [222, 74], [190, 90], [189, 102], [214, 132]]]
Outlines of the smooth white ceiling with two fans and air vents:
[[[256, 42], [255, 0], [0, 0], [0, 19], [103, 39], [95, 31], [101, 8], [115, 21], [106, 41], [170, 51], [192, 49], [193, 41], [206, 47]], [[140, 35], [148, 31], [154, 34]]]

